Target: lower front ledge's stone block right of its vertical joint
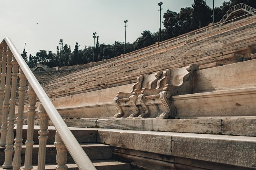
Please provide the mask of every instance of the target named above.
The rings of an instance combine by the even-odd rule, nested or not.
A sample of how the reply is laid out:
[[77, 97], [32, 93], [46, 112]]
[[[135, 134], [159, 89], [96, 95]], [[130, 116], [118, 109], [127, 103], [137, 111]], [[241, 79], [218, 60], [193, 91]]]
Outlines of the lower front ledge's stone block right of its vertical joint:
[[[229, 137], [229, 136], [228, 136]], [[172, 137], [172, 155], [253, 168], [256, 139], [211, 137]]]

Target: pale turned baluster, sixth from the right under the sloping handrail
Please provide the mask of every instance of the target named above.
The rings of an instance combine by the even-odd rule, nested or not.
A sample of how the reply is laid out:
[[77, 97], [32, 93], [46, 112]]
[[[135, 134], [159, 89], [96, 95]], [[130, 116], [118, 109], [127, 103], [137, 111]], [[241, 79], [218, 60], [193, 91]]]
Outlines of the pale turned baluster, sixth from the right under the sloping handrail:
[[10, 88], [11, 88], [11, 60], [12, 53], [8, 49], [7, 50], [7, 71], [6, 71], [6, 84], [4, 86], [4, 102], [2, 105], [3, 116], [2, 116], [2, 126], [1, 126], [1, 138], [0, 138], [0, 146], [6, 145], [6, 135], [7, 135], [7, 117], [9, 113], [9, 99], [10, 99]]

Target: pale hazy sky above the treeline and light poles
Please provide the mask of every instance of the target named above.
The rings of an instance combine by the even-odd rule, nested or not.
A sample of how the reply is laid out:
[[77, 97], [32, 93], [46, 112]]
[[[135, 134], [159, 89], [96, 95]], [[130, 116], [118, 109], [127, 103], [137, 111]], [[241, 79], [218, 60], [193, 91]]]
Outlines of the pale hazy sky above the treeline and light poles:
[[[56, 53], [60, 39], [73, 51], [76, 42], [79, 49], [93, 46], [94, 32], [100, 44], [124, 42], [128, 20], [126, 42], [132, 43], [145, 30], [159, 30], [160, 1], [162, 16], [168, 9], [179, 12], [193, 4], [193, 0], [2, 0], [0, 39], [9, 37], [20, 53], [26, 43], [28, 55], [39, 50]], [[213, 7], [213, 0], [206, 2]], [[214, 0], [214, 7], [223, 2]]]

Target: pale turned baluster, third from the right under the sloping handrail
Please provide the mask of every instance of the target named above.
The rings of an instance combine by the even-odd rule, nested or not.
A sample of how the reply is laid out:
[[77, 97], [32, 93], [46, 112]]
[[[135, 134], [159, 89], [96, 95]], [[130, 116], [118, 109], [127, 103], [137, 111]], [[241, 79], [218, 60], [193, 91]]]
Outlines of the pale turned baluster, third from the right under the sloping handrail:
[[34, 135], [34, 119], [36, 113], [36, 93], [32, 89], [29, 84], [29, 88], [27, 93], [29, 94], [29, 106], [27, 107], [29, 110], [27, 111], [28, 117], [28, 125], [27, 125], [27, 141], [25, 142], [26, 145], [26, 152], [25, 152], [25, 162], [23, 166], [23, 170], [31, 170], [32, 166], [32, 151], [33, 151], [33, 135]]

